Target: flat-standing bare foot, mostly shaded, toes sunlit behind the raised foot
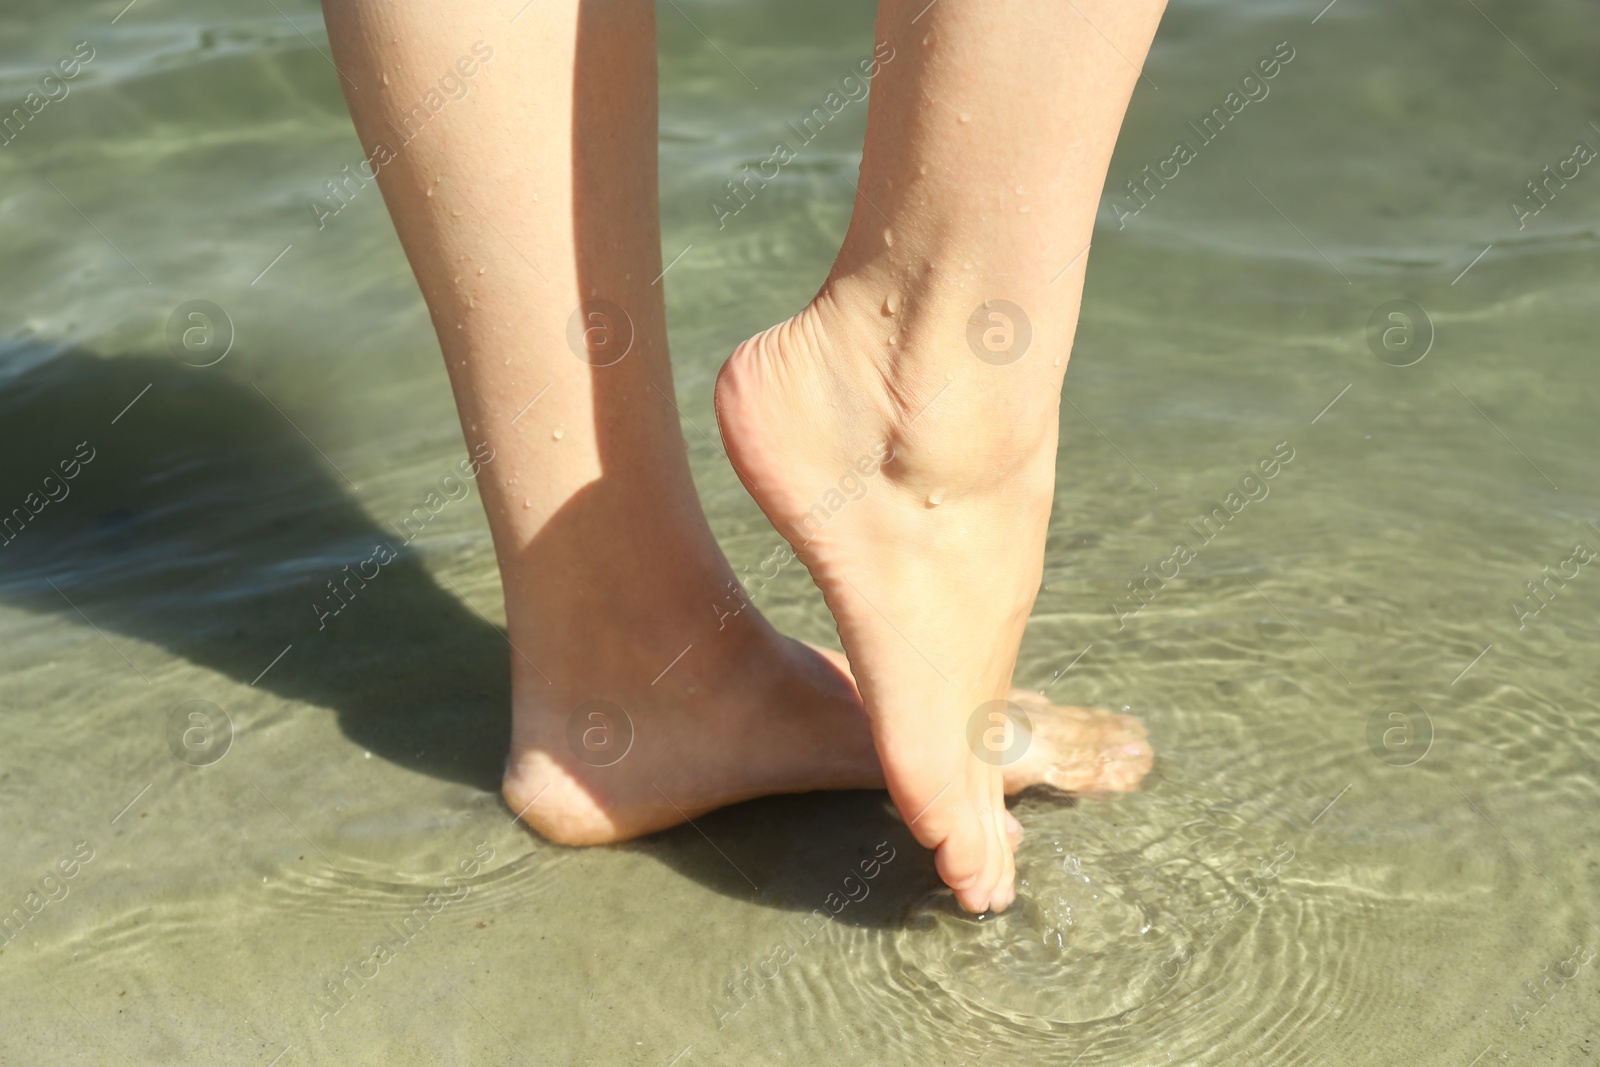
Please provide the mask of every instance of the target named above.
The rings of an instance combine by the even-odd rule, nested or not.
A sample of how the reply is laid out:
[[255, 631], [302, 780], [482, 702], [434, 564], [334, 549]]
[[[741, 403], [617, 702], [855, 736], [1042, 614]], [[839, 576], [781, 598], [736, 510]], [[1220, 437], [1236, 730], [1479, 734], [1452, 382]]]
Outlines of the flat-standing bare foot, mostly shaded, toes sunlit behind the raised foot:
[[[755, 608], [741, 611], [738, 627], [707, 627], [702, 637], [656, 685], [654, 661], [589, 657], [584, 678], [635, 678], [605, 689], [614, 694], [600, 697], [610, 707], [592, 702], [594, 688], [557, 696], [518, 662], [504, 781], [512, 811], [554, 841], [605, 845], [754, 797], [883, 787], [843, 656], [776, 633]], [[544, 670], [560, 673], [554, 662]], [[1144, 728], [1126, 715], [1059, 707], [1022, 689], [1011, 699], [1027, 709], [1034, 737], [1005, 766], [1008, 793], [1126, 790], [1150, 768]], [[1014, 848], [1022, 827], [1010, 813], [1005, 825]]]

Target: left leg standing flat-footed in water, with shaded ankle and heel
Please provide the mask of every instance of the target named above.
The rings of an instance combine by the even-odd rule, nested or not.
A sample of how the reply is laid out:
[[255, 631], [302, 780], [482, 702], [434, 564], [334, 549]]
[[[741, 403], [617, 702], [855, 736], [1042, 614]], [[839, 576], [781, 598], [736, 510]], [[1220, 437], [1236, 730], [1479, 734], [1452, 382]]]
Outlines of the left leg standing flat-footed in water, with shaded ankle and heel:
[[[515, 24], [499, 0], [325, 11], [467, 446], [493, 454], [478, 486], [517, 649], [507, 803], [554, 840], [594, 843], [760, 793], [880, 782], [848, 675], [754, 608], [715, 611], [738, 608], [738, 585], [694, 496], [651, 283], [653, 6], [544, 0]], [[461, 77], [477, 42], [493, 59]], [[466, 94], [414, 112], [446, 98], [442, 75]], [[584, 323], [589, 362], [568, 342], [594, 298], [630, 320], [632, 346], [610, 366], [592, 363], [627, 322], [610, 338]], [[637, 731], [614, 766], [568, 742], [590, 699], [621, 705]]]

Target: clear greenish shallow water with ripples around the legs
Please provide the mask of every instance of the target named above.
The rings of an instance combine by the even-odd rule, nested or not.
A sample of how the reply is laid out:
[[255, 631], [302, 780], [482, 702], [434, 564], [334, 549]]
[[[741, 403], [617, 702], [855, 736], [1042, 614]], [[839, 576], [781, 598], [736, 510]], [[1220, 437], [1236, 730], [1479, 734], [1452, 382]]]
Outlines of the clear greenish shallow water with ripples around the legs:
[[[1592, 1061], [1600, 576], [1571, 560], [1600, 549], [1600, 173], [1509, 208], [1600, 147], [1592, 5], [1170, 11], [1018, 669], [1130, 705], [1158, 761], [1134, 795], [1022, 800], [1019, 907], [987, 920], [880, 795], [602, 851], [518, 830], [475, 499], [317, 630], [310, 590], [466, 453], [376, 189], [307, 210], [360, 150], [315, 8], [272, 6], [13, 0], [0, 27], [8, 109], [94, 50], [0, 146], [0, 507], [78, 461], [0, 549], [0, 917], [26, 920], [0, 1062]], [[821, 280], [864, 106], [720, 229], [707, 202], [870, 51], [870, 13], [659, 18], [683, 430], [757, 571], [778, 537], [710, 381]], [[1269, 94], [1131, 214], [1123, 182], [1278, 42]], [[168, 350], [195, 299], [234, 328], [210, 368]], [[1390, 301], [1426, 318], [1371, 341]], [[1523, 584], [1563, 563], [1541, 606]], [[832, 640], [795, 568], [757, 601]], [[330, 1011], [344, 968], [368, 977]]]

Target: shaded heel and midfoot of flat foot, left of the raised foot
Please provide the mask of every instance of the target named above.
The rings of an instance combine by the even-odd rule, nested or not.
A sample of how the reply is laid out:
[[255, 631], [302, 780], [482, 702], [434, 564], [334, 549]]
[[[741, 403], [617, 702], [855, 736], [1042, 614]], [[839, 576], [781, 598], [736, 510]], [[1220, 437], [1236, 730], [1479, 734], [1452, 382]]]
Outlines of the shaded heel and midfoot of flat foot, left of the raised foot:
[[754, 608], [696, 637], [654, 683], [688, 637], [610, 627], [571, 670], [541, 664], [555, 685], [514, 662], [510, 809], [552, 841], [606, 845], [754, 797], [882, 784], [854, 686], [824, 656]]

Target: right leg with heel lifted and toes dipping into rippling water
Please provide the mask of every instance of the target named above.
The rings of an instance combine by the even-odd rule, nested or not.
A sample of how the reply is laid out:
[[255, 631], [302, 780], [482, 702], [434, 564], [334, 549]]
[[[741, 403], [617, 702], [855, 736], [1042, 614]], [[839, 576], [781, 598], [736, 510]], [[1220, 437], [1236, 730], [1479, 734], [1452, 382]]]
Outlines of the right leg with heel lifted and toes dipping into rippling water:
[[[1006, 694], [1038, 589], [1080, 253], [1162, 8], [882, 0], [845, 246], [718, 379], [730, 456], [838, 621], [890, 793], [974, 912], [1010, 904], [1013, 861], [1006, 774], [968, 721]], [[1024, 309], [1026, 352], [992, 298]], [[1099, 784], [1149, 768], [1126, 741]]]

